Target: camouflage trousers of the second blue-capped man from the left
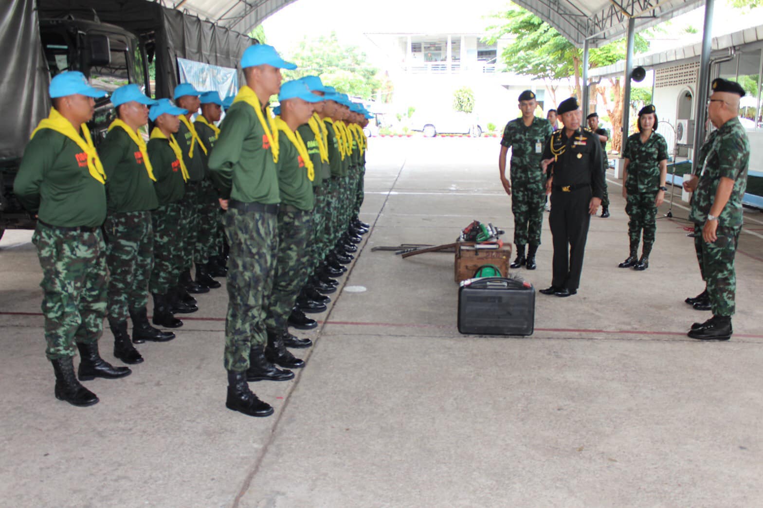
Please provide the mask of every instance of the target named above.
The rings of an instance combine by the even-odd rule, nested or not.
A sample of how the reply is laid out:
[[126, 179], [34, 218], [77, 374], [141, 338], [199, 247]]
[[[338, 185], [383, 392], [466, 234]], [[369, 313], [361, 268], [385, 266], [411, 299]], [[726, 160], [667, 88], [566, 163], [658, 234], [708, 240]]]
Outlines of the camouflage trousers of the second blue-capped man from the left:
[[150, 211], [109, 214], [104, 223], [108, 266], [108, 317], [126, 321], [130, 310], [146, 307], [153, 266]]

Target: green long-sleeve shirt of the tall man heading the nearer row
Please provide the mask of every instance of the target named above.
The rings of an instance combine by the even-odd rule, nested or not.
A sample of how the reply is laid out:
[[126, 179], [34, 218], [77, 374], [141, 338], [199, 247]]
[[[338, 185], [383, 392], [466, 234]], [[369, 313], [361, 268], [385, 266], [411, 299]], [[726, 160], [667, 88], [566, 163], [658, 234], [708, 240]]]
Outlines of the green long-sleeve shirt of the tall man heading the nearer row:
[[209, 169], [221, 197], [244, 203], [280, 203], [270, 143], [254, 109], [243, 101], [233, 104], [220, 128]]

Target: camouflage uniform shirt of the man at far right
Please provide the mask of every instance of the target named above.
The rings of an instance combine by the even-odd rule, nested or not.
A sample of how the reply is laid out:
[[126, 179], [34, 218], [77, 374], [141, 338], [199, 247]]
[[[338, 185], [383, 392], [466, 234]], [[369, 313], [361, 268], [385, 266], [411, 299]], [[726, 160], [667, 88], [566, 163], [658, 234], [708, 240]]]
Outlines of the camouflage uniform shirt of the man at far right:
[[734, 181], [734, 188], [718, 220], [723, 227], [741, 227], [742, 196], [747, 188], [749, 162], [750, 142], [739, 118], [732, 118], [720, 129], [713, 130], [700, 149], [697, 167], [702, 168], [702, 175], [691, 199], [689, 220], [697, 224], [705, 223], [720, 178], [725, 176]]

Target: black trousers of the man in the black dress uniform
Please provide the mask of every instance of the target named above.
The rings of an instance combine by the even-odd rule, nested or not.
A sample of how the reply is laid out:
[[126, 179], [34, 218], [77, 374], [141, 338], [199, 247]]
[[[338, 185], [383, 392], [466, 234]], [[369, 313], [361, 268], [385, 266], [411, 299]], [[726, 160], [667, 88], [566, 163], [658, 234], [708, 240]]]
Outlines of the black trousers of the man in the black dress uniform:
[[576, 290], [583, 270], [585, 240], [591, 214], [591, 188], [578, 188], [571, 192], [553, 189], [549, 226], [554, 244], [553, 278], [556, 288]]

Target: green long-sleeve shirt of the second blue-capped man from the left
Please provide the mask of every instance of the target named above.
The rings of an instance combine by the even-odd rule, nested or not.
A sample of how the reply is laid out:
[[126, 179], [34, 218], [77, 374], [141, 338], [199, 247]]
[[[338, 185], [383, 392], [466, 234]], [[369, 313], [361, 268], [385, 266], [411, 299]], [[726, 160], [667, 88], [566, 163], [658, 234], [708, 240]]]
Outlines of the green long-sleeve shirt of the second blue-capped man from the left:
[[106, 134], [106, 139], [98, 146], [98, 156], [107, 177], [109, 213], [146, 211], [159, 206], [140, 148], [124, 129], [114, 127]]

